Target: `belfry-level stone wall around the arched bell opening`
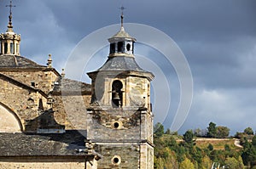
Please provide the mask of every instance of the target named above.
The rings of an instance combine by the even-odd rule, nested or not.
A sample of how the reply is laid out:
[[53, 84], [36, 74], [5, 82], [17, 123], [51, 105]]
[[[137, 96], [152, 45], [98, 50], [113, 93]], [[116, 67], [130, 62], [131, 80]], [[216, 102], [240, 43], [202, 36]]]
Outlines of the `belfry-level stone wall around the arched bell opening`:
[[147, 78], [139, 76], [120, 76], [119, 78], [111, 78], [99, 76], [92, 81], [92, 94], [95, 100], [101, 106], [112, 106], [114, 81], [122, 82], [122, 107], [145, 107], [150, 108], [150, 83]]

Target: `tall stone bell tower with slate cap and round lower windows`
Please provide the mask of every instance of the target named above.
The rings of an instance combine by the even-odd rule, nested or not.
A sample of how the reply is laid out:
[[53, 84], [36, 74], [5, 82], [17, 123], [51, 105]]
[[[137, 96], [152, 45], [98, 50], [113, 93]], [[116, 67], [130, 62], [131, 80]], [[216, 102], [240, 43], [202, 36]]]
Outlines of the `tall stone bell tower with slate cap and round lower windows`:
[[87, 111], [87, 139], [102, 155], [98, 168], [153, 169], [153, 114], [150, 81], [134, 55], [136, 39], [123, 26], [110, 43], [108, 60], [88, 73], [92, 96]]

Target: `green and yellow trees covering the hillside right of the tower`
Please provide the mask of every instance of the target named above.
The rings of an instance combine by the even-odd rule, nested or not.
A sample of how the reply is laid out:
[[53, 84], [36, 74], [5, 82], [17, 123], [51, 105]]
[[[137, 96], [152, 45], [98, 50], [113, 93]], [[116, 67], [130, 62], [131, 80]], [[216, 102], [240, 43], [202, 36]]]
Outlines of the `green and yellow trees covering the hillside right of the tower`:
[[[237, 133], [239, 133], [237, 135]], [[210, 169], [212, 164], [229, 169], [256, 168], [256, 136], [247, 127], [230, 137], [228, 127], [210, 122], [207, 131], [188, 130], [183, 136], [157, 123], [154, 126], [154, 168]], [[240, 136], [240, 137], [237, 137]], [[236, 146], [240, 139], [243, 147]]]

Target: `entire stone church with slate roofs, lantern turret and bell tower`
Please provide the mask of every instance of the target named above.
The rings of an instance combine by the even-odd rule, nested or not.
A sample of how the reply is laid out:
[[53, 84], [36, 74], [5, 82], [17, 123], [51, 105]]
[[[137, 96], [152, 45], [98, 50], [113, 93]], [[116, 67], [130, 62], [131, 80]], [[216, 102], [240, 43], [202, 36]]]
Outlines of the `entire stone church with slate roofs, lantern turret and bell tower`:
[[87, 84], [55, 70], [50, 54], [47, 65], [21, 56], [9, 7], [0, 34], [0, 168], [153, 169], [154, 75], [137, 65], [123, 13], [107, 61]]

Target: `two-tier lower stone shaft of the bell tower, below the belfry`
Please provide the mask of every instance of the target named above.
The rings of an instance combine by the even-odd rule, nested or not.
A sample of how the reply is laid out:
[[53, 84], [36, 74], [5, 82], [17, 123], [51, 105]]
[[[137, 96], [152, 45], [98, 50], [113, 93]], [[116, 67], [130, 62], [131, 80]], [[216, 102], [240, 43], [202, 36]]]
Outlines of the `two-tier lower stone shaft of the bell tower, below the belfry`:
[[152, 169], [152, 113], [145, 108], [136, 111], [96, 108], [87, 114], [87, 138], [96, 143], [96, 151], [103, 155], [99, 168]]

